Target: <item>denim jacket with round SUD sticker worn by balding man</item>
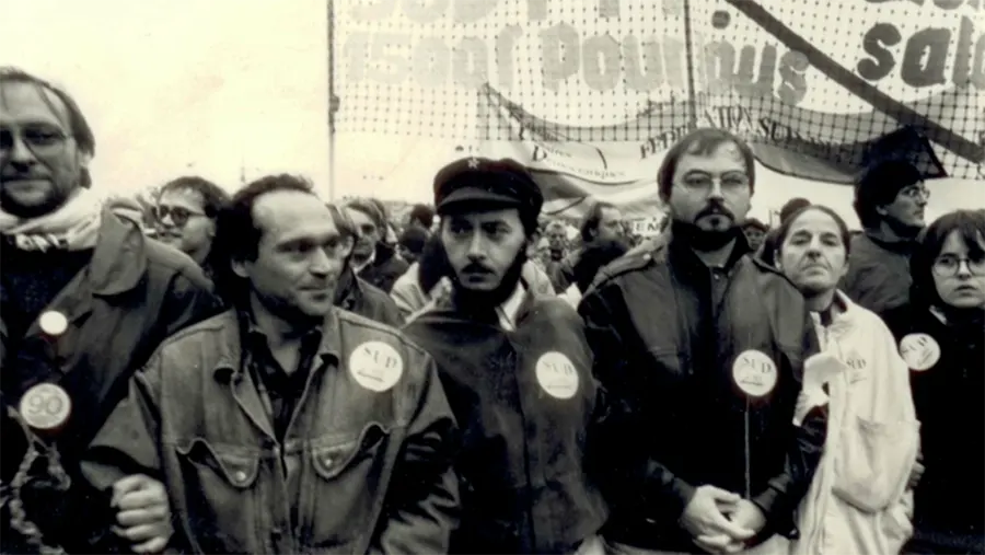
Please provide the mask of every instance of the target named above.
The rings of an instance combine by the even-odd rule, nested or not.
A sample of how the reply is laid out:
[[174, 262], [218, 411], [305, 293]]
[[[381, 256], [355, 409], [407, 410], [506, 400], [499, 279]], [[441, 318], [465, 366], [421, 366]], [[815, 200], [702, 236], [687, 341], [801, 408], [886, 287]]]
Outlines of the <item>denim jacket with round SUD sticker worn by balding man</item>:
[[447, 553], [455, 423], [434, 362], [345, 311], [333, 310], [323, 332], [283, 442], [241, 367], [230, 311], [161, 346], [83, 473], [103, 490], [137, 472], [163, 479], [172, 543], [189, 553]]

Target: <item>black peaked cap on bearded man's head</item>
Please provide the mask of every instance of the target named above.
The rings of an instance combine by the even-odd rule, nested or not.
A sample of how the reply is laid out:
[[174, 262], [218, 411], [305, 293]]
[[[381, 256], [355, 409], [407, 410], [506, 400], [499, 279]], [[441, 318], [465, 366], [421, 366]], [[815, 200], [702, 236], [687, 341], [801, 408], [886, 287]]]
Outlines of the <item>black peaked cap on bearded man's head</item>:
[[451, 207], [510, 207], [536, 218], [544, 206], [541, 187], [515, 160], [463, 158], [434, 175], [434, 206], [439, 215]]

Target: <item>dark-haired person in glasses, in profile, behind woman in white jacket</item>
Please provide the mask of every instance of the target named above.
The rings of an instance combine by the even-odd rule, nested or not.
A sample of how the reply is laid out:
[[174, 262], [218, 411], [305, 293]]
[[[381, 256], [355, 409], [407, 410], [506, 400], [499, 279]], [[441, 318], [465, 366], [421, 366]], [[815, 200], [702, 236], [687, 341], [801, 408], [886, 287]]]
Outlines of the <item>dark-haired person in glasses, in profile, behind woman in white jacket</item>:
[[851, 240], [848, 274], [839, 287], [877, 314], [909, 301], [909, 255], [924, 229], [930, 192], [909, 162], [869, 167], [855, 185], [855, 212], [864, 232]]

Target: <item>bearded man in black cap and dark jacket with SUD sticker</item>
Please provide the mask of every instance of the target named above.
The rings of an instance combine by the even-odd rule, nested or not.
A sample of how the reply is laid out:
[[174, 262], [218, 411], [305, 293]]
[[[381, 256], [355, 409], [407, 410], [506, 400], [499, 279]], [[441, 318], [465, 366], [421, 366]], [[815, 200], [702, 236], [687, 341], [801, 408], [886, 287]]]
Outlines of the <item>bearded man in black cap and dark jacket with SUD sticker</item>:
[[592, 355], [575, 310], [521, 278], [541, 190], [512, 160], [473, 158], [438, 172], [434, 199], [452, 292], [405, 332], [434, 357], [463, 427], [449, 553], [601, 555]]

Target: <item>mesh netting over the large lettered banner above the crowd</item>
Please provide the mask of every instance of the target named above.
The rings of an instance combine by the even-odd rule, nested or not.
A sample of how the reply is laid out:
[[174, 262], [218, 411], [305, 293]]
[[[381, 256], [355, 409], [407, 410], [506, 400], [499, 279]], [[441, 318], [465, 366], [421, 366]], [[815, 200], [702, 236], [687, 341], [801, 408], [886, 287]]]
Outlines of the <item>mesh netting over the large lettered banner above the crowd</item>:
[[985, 178], [985, 0], [334, 0], [336, 130], [635, 143]]

